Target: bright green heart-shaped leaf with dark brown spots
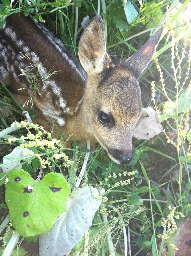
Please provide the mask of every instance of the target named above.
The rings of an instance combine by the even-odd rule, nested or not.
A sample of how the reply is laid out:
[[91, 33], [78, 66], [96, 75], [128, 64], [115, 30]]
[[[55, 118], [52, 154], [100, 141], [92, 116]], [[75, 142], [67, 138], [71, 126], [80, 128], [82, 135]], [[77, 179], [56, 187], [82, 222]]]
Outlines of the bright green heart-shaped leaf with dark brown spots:
[[7, 177], [5, 202], [16, 231], [23, 237], [49, 231], [56, 218], [66, 211], [70, 188], [65, 178], [51, 172], [38, 181], [28, 172], [16, 169]]

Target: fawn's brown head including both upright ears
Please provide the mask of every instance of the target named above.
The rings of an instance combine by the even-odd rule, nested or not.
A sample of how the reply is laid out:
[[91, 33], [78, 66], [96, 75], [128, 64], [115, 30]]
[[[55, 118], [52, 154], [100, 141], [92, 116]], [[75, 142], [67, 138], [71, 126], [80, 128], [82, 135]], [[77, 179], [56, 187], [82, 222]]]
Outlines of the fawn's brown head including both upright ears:
[[103, 21], [94, 17], [79, 42], [79, 59], [87, 72], [82, 119], [88, 133], [106, 149], [118, 164], [132, 159], [133, 130], [141, 117], [138, 78], [148, 66], [162, 28], [135, 54], [114, 65], [106, 52]]

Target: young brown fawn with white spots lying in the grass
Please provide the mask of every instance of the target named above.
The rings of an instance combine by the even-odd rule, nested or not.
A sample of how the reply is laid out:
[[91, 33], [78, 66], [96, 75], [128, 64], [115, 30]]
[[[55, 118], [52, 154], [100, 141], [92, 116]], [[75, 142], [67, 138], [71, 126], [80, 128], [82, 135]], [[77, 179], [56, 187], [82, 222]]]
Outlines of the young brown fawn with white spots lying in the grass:
[[[23, 104], [34, 91], [30, 61], [23, 56], [34, 63], [38, 57], [34, 122], [50, 131], [55, 120], [55, 136], [64, 133], [66, 138], [72, 133], [71, 141], [98, 141], [115, 163], [126, 164], [133, 156], [133, 130], [141, 117], [138, 78], [149, 64], [161, 33], [162, 28], [130, 58], [114, 65], [106, 52], [103, 21], [95, 16], [79, 42], [83, 69], [43, 24], [22, 13], [13, 14], [0, 29], [0, 80]], [[23, 68], [27, 74], [19, 76]], [[60, 72], [47, 80], [50, 70]]]

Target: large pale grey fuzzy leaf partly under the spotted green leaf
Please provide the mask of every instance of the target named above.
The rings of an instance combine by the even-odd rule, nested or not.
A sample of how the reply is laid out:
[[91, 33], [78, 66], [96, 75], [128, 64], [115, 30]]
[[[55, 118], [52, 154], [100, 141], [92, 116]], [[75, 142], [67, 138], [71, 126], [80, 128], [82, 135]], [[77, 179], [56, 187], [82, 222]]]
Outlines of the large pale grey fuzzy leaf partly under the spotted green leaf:
[[79, 188], [68, 200], [67, 211], [58, 217], [49, 232], [40, 235], [40, 256], [63, 256], [80, 241], [101, 204], [95, 197], [99, 197], [96, 188]]

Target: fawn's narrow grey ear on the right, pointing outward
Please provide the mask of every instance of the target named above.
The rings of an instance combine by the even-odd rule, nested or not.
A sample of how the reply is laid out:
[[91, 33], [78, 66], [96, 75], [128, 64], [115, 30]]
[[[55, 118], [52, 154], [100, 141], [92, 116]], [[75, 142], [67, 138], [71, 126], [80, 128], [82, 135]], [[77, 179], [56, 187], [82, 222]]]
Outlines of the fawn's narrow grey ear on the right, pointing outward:
[[136, 53], [121, 63], [121, 65], [130, 70], [137, 79], [151, 61], [155, 46], [157, 46], [162, 32], [163, 28], [161, 27]]

